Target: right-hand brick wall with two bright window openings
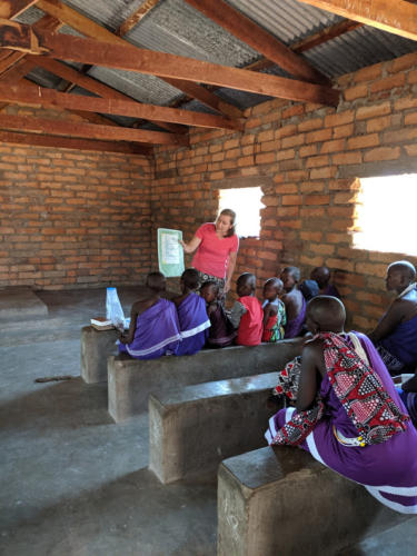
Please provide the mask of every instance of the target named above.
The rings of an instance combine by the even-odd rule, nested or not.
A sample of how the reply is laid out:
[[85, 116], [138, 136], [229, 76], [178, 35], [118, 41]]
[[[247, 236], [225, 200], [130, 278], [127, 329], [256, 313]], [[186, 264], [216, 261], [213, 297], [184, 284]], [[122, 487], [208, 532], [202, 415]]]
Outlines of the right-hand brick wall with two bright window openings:
[[417, 258], [354, 248], [357, 178], [417, 171], [417, 54], [337, 85], [344, 91], [337, 110], [272, 100], [246, 111], [244, 133], [193, 130], [190, 149], [158, 148], [152, 221], [190, 239], [215, 218], [219, 187], [261, 180], [260, 238], [241, 241], [236, 274], [254, 271], [261, 282], [286, 265], [307, 277], [327, 264], [349, 325], [368, 329], [388, 301], [386, 265]]

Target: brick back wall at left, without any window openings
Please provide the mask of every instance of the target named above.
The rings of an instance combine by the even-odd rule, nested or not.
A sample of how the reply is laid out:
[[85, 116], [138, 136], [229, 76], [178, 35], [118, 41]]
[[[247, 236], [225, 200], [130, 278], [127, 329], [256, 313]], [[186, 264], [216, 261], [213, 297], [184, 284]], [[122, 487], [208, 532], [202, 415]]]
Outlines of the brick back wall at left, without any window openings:
[[140, 281], [151, 171], [140, 156], [1, 143], [0, 286]]

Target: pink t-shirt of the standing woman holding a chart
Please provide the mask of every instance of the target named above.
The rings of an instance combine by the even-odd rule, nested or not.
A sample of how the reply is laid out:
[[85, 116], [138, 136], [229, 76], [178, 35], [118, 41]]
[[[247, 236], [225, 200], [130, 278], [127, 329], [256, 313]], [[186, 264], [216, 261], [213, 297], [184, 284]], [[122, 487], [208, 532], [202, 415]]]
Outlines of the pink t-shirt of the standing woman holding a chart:
[[200, 272], [225, 278], [229, 255], [238, 252], [239, 238], [234, 234], [228, 238], [219, 239], [212, 222], [200, 226], [196, 236], [201, 239], [201, 244], [193, 256], [192, 266]]

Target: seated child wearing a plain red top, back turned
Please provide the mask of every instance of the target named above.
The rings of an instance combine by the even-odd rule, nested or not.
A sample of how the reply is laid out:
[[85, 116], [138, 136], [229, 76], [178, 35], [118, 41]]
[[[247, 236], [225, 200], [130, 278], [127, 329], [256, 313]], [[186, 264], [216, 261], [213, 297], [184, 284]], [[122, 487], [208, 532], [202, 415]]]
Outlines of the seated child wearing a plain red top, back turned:
[[260, 301], [255, 297], [256, 277], [244, 272], [237, 281], [239, 298], [231, 309], [230, 320], [238, 329], [236, 344], [239, 346], [258, 346], [262, 338], [264, 311]]

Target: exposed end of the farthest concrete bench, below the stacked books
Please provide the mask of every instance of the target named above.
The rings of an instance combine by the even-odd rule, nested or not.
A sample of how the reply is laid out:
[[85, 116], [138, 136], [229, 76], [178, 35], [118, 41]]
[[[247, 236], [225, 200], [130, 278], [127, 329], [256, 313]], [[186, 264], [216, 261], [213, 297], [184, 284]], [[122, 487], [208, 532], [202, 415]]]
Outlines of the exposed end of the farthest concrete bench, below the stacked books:
[[81, 329], [81, 377], [88, 383], [107, 381], [107, 358], [117, 354], [118, 332], [96, 330], [92, 326]]

